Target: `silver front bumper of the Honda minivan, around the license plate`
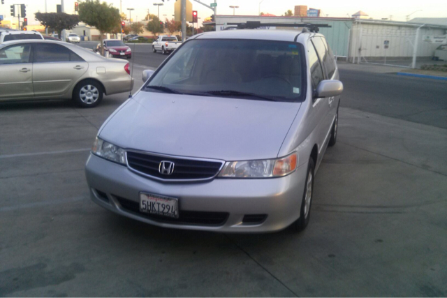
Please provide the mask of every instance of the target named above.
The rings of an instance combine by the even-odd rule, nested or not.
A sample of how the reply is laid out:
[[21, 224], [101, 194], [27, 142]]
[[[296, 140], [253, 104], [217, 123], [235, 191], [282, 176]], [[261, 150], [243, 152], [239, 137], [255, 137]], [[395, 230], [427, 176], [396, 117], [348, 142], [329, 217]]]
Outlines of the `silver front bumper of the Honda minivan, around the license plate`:
[[[286, 177], [275, 179], [162, 183], [90, 154], [85, 174], [91, 200], [117, 214], [164, 228], [253, 233], [282, 230], [298, 219], [306, 170], [307, 164]], [[140, 192], [178, 198], [180, 214], [182, 211], [222, 212], [228, 213], [228, 217], [221, 225], [166, 223], [147, 218], [120, 203], [123, 199], [138, 203]], [[242, 218], [247, 214], [267, 214], [267, 218], [261, 223], [243, 223]]]

